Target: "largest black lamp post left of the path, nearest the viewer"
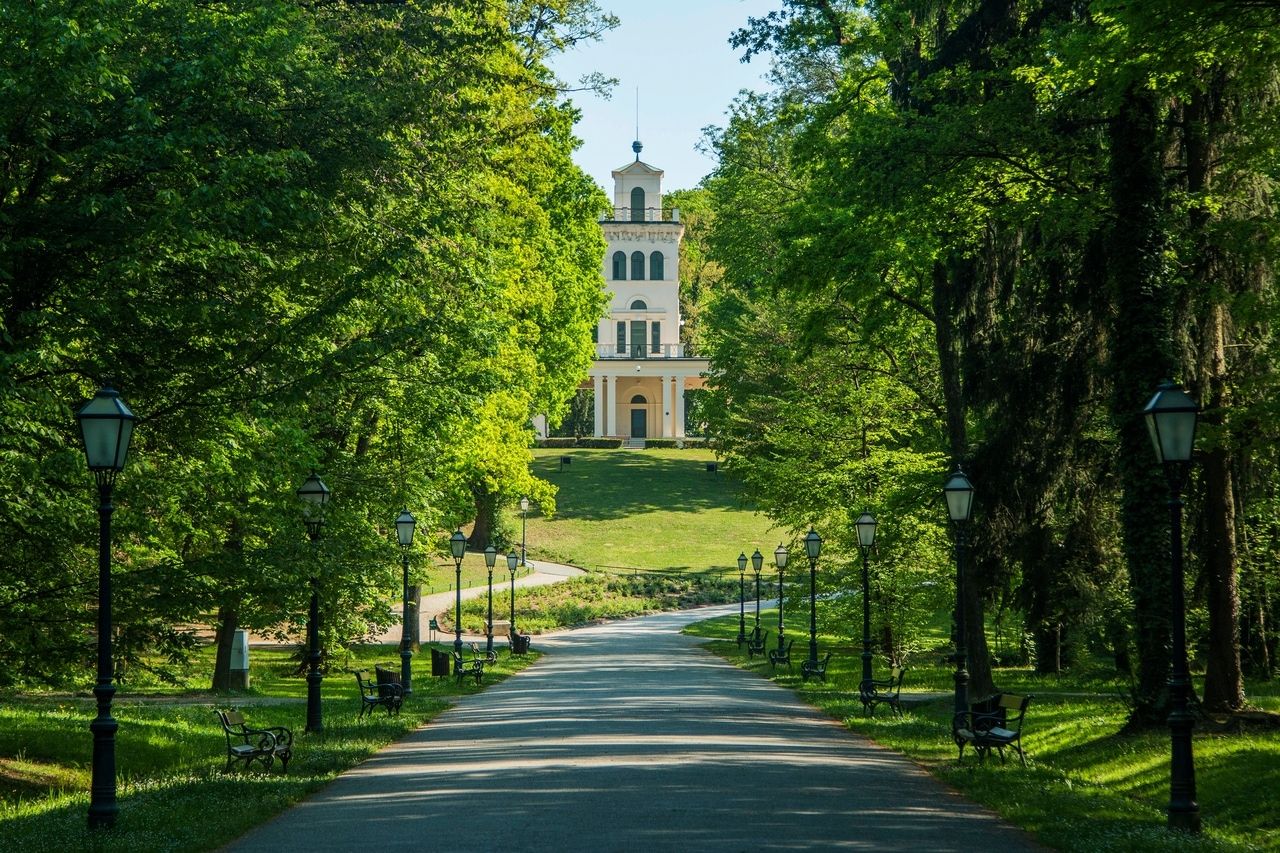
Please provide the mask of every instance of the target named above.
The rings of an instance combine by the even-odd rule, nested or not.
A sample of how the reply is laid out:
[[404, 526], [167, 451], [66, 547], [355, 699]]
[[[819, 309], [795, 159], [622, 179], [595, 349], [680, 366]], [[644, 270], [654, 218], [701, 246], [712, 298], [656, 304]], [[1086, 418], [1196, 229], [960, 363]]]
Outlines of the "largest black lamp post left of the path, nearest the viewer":
[[88, 724], [93, 733], [93, 776], [90, 785], [88, 825], [115, 825], [115, 730], [111, 697], [115, 695], [111, 667], [111, 491], [115, 475], [124, 469], [136, 418], [114, 388], [101, 388], [76, 412], [84, 460], [97, 483], [97, 717]]

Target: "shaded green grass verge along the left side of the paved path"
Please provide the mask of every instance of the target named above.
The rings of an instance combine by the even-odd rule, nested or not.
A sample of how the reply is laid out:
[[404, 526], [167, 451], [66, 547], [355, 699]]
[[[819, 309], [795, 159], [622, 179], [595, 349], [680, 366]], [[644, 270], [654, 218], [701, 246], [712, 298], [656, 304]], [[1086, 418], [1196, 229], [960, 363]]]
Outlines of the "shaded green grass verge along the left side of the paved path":
[[[443, 648], [443, 647], [442, 647]], [[499, 652], [485, 684], [522, 669], [536, 653]], [[356, 666], [396, 663], [392, 647], [356, 649]], [[303, 731], [306, 683], [292, 676], [285, 651], [253, 649], [253, 690], [232, 697], [192, 697], [172, 689], [170, 701], [140, 702], [116, 694], [116, 779], [120, 813], [109, 834], [90, 834], [88, 722], [92, 698], [4, 695], [0, 704], [0, 850], [206, 850], [319, 790], [381, 747], [447, 708], [452, 698], [484, 689], [472, 680], [430, 678], [430, 654], [413, 658], [413, 695], [402, 713], [357, 720], [355, 678], [333, 672], [323, 684], [323, 733]], [[154, 693], [154, 692], [152, 692]], [[294, 733], [288, 776], [279, 767], [223, 774], [227, 747], [212, 708], [238, 707], [250, 725], [283, 725]]]

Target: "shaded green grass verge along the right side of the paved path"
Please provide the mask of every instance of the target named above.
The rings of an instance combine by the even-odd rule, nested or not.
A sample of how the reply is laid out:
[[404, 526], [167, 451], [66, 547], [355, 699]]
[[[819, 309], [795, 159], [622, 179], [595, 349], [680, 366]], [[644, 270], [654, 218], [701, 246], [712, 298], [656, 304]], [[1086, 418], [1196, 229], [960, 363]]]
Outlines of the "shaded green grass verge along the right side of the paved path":
[[[769, 625], [763, 613], [760, 621]], [[858, 701], [861, 649], [847, 642], [819, 638], [823, 653], [835, 652], [827, 683], [804, 684], [799, 665], [795, 674], [785, 669], [772, 672], [767, 661], [749, 660], [745, 647], [739, 649], [732, 640], [736, 616], [687, 630], [709, 638], [708, 648], [726, 660], [796, 689], [854, 731], [904, 753], [1053, 849], [1280, 849], [1280, 731], [1275, 729], [1222, 734], [1212, 730], [1212, 724], [1198, 725], [1193, 749], [1204, 827], [1201, 836], [1188, 838], [1165, 829], [1169, 731], [1119, 734], [1128, 708], [1115, 692], [1093, 694], [1098, 686], [1093, 675], [1047, 678], [1028, 670], [997, 669], [995, 679], [1001, 689], [1037, 695], [1023, 729], [1029, 766], [1020, 767], [1016, 758], [1005, 766], [996, 760], [979, 766], [968, 751], [964, 763], [956, 762], [950, 697], [910, 701], [911, 693], [952, 688], [951, 671], [936, 662], [941, 652], [913, 662], [902, 690], [906, 701], [901, 719], [883, 710], [868, 719]], [[884, 669], [883, 661], [877, 661], [877, 676], [883, 678]], [[1247, 688], [1251, 695], [1263, 694], [1258, 704], [1266, 704], [1275, 692], [1274, 684]]]

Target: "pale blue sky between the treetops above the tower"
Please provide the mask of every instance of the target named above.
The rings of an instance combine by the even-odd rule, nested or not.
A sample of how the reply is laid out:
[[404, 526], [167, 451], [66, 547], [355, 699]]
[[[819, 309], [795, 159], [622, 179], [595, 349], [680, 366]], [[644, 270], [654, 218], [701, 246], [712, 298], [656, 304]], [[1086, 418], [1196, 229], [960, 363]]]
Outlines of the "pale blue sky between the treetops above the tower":
[[612, 192], [609, 173], [635, 159], [636, 87], [640, 88], [640, 159], [663, 169], [663, 191], [698, 186], [716, 161], [695, 150], [708, 124], [723, 127], [740, 90], [765, 91], [768, 58], [740, 61], [730, 33], [763, 17], [780, 0], [599, 0], [622, 23], [604, 38], [558, 56], [552, 68], [576, 83], [582, 74], [616, 77], [613, 97], [572, 95], [582, 111], [577, 164]]

